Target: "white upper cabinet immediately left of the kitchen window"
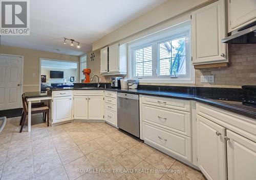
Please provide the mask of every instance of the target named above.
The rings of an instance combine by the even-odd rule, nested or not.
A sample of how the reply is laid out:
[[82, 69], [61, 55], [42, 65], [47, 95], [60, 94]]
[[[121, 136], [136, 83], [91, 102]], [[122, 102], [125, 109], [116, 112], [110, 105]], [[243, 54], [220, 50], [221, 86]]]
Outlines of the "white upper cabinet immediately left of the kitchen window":
[[100, 73], [102, 75], [127, 74], [126, 44], [115, 43], [100, 50]]

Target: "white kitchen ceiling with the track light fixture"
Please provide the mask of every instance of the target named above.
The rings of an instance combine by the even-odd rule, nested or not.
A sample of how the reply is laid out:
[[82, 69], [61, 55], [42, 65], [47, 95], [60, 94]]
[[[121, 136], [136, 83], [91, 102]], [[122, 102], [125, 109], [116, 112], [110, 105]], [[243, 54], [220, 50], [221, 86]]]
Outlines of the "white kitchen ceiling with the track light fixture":
[[[80, 56], [92, 49], [92, 42], [165, 1], [33, 0], [30, 36], [2, 36], [1, 44]], [[63, 44], [63, 37], [81, 42], [81, 48]]]

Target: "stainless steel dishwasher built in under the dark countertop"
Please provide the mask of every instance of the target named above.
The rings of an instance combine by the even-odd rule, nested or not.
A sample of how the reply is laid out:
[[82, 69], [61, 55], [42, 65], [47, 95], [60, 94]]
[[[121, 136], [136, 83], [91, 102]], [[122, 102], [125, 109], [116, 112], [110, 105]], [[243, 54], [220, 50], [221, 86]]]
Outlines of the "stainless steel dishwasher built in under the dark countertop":
[[136, 137], [139, 133], [139, 95], [117, 93], [117, 126]]

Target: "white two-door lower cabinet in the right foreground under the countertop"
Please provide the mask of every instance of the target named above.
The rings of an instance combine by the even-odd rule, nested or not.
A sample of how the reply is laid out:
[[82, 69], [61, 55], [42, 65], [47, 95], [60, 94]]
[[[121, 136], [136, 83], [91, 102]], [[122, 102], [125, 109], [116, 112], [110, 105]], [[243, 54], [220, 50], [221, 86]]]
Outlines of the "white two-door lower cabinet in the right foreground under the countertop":
[[256, 179], [255, 124], [255, 119], [197, 103], [198, 167], [208, 180]]

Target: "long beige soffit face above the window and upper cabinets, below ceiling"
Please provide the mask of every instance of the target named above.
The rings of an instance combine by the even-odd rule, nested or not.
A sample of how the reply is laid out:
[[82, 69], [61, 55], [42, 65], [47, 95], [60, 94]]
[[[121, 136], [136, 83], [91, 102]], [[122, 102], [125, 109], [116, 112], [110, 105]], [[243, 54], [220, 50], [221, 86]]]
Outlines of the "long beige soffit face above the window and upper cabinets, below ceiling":
[[112, 33], [93, 42], [93, 50], [135, 35], [145, 29], [152, 28], [155, 25], [176, 18], [213, 1], [215, 0], [168, 0], [166, 3], [148, 11]]

